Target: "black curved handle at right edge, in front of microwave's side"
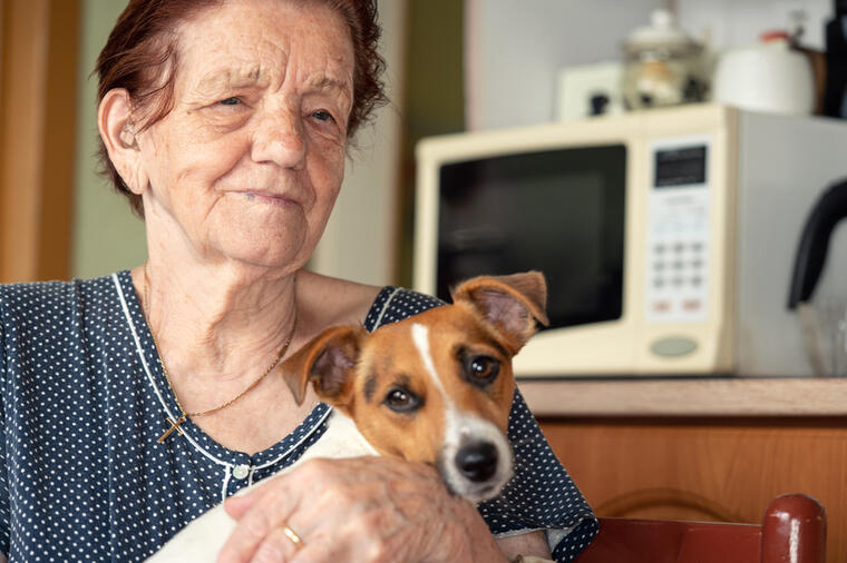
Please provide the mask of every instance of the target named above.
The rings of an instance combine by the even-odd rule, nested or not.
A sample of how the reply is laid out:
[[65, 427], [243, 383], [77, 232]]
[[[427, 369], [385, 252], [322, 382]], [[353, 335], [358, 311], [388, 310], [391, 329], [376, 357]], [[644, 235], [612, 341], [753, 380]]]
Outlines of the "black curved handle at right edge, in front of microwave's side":
[[800, 245], [795, 257], [788, 308], [807, 302], [815, 293], [829, 250], [829, 238], [836, 225], [847, 218], [847, 181], [827, 189], [818, 199], [802, 229]]

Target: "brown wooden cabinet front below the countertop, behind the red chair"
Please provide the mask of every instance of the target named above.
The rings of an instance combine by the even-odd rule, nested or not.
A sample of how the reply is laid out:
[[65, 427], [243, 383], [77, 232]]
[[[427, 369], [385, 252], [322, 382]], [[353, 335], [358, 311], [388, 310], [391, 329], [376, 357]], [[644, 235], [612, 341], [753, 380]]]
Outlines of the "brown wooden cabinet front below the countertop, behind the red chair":
[[[840, 396], [841, 408], [845, 384], [827, 389]], [[562, 385], [566, 405], [573, 397], [564, 398], [569, 384]], [[535, 403], [544, 411], [536, 413], [542, 429], [598, 515], [759, 522], [771, 498], [799, 492], [827, 511], [827, 561], [847, 561], [847, 417], [817, 415], [808, 393], [791, 416], [741, 416], [741, 399], [730, 412], [701, 405], [697, 416], [662, 416], [651, 399], [639, 412], [609, 403], [609, 393], [595, 397], [604, 406], [594, 413], [586, 412], [586, 397], [578, 416], [564, 416], [564, 409], [551, 412], [555, 392], [541, 395], [536, 401], [525, 391], [530, 408]], [[750, 405], [747, 412], [767, 408]]]

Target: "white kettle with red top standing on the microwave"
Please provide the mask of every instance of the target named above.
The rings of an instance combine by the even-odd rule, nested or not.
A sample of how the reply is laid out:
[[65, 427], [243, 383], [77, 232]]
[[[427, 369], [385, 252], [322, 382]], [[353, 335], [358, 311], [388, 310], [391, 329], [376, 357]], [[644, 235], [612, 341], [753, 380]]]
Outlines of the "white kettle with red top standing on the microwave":
[[791, 49], [786, 33], [765, 33], [758, 45], [721, 56], [713, 97], [752, 111], [808, 115], [815, 109], [815, 77], [809, 60]]

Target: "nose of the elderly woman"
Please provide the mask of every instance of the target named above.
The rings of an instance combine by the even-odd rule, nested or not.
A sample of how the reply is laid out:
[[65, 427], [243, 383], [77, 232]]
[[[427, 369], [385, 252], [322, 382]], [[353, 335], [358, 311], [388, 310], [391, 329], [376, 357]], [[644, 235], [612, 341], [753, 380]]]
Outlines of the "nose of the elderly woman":
[[305, 162], [303, 120], [293, 110], [274, 111], [260, 118], [251, 156], [256, 162], [301, 168]]

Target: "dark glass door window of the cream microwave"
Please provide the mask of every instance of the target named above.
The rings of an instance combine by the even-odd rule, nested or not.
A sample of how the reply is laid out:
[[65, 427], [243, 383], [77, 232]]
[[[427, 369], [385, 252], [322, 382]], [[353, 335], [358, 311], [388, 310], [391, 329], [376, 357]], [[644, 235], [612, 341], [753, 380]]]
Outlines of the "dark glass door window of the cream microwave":
[[469, 277], [537, 269], [551, 328], [620, 318], [625, 184], [623, 145], [442, 166], [438, 296]]

